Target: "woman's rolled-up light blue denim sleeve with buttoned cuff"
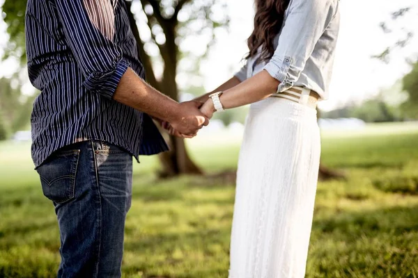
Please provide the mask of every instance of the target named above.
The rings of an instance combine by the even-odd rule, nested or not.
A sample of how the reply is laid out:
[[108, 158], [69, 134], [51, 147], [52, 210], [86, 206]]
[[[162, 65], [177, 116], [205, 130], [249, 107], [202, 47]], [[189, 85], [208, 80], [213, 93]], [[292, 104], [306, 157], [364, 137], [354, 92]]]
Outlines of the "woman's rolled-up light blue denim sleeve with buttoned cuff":
[[336, 14], [338, 0], [292, 0], [277, 49], [263, 68], [280, 81], [277, 92], [293, 87], [315, 45]]

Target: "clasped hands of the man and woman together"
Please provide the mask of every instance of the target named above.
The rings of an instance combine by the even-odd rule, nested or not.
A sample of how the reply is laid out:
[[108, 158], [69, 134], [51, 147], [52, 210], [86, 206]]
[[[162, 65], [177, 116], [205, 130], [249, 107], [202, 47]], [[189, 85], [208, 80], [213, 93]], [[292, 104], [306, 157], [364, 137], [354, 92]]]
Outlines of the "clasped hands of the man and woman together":
[[171, 136], [180, 138], [196, 136], [199, 129], [209, 124], [209, 119], [215, 111], [211, 99], [204, 104], [199, 101], [183, 102], [180, 104], [180, 110], [182, 115], [177, 120], [162, 122], [162, 127], [167, 129]]

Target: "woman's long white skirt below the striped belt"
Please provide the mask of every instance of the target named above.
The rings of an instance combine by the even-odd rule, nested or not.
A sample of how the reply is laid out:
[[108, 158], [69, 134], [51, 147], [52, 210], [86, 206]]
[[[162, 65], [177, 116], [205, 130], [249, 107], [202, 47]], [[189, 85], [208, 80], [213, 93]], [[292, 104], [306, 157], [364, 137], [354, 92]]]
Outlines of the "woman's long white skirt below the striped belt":
[[302, 278], [318, 167], [316, 111], [269, 97], [251, 105], [238, 163], [230, 278]]

